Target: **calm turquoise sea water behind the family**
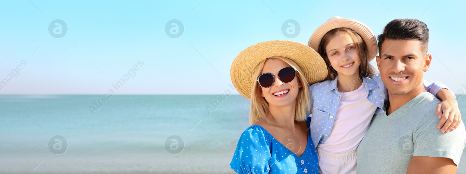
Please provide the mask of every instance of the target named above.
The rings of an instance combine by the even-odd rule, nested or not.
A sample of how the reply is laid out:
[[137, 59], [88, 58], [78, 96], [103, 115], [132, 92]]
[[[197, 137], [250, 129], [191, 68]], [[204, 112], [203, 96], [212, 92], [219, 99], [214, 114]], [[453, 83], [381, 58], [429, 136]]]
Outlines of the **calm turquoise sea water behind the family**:
[[[0, 96], [0, 173], [233, 173], [249, 100], [213, 107], [216, 97], [113, 96], [92, 115], [99, 96]], [[466, 99], [459, 104], [465, 115]], [[55, 135], [61, 149], [55, 138], [49, 147]], [[466, 174], [465, 154], [457, 173]]]

